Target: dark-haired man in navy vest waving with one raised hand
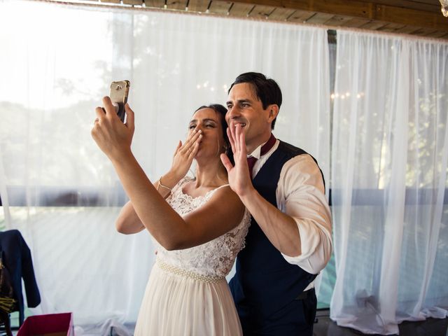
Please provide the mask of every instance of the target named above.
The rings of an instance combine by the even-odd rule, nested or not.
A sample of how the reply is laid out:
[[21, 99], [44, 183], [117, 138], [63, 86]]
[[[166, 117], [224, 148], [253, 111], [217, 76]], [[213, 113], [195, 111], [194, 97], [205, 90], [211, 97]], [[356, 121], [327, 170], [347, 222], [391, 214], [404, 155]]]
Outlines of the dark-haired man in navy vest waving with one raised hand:
[[230, 281], [244, 335], [312, 335], [313, 281], [332, 251], [323, 175], [311, 155], [272, 134], [281, 106], [274, 80], [242, 73], [227, 106], [235, 167], [221, 160], [252, 215]]

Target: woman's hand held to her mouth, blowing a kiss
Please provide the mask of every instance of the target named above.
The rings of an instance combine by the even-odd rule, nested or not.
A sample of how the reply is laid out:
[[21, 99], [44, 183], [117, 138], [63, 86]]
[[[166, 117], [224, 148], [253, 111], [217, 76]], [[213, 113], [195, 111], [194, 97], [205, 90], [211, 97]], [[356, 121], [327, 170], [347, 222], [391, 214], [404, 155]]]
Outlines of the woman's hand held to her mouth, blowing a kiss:
[[195, 129], [188, 134], [184, 144], [182, 144], [182, 141], [179, 141], [169, 173], [175, 175], [179, 180], [186, 176], [199, 149], [201, 139], [202, 131]]

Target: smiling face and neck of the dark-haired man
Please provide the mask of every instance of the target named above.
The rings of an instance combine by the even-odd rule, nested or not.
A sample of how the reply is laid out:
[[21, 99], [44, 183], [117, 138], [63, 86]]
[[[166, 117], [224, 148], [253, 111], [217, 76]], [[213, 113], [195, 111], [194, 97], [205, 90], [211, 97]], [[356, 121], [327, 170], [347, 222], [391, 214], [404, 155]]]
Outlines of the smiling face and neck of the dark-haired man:
[[225, 115], [229, 127], [241, 125], [246, 136], [246, 147], [251, 153], [257, 146], [269, 138], [271, 122], [269, 106], [263, 109], [261, 100], [249, 83], [233, 85], [227, 102], [228, 112]]

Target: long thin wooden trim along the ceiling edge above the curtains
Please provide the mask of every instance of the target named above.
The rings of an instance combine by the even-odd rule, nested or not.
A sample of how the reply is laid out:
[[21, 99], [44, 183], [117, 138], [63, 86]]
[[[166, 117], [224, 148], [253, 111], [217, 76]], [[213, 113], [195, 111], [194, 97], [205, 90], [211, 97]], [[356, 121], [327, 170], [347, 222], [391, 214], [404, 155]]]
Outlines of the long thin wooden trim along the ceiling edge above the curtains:
[[[182, 15], [212, 15], [214, 18], [230, 18], [235, 20], [251, 20], [251, 21], [257, 21], [257, 22], [272, 22], [272, 23], [281, 23], [283, 25], [294, 25], [294, 26], [300, 26], [300, 27], [315, 27], [320, 29], [327, 29], [327, 30], [339, 30], [339, 31], [353, 31], [363, 34], [372, 34], [372, 35], [383, 35], [383, 36], [396, 36], [398, 38], [408, 38], [408, 39], [416, 39], [416, 40], [425, 40], [425, 41], [435, 41], [437, 43], [443, 43], [448, 44], [447, 40], [444, 40], [443, 38], [436, 38], [436, 37], [426, 37], [426, 36], [414, 36], [410, 34], [398, 34], [398, 33], [391, 33], [388, 31], [373, 31], [369, 29], [362, 29], [362, 28], [353, 28], [353, 27], [337, 27], [337, 26], [326, 26], [326, 25], [316, 25], [311, 23], [300, 23], [300, 22], [288, 22], [288, 21], [280, 21], [280, 20], [262, 20], [258, 18], [239, 18], [235, 16], [229, 16], [229, 15], [221, 15], [216, 13], [197, 13], [197, 12], [189, 12], [187, 10], [174, 10], [174, 9], [159, 9], [159, 8], [153, 8], [153, 7], [142, 7], [142, 6], [135, 6], [135, 5], [127, 5], [127, 4], [103, 4], [103, 3], [84, 3], [84, 2], [71, 2], [71, 1], [59, 1], [59, 0], [31, 0], [31, 1], [38, 1], [38, 2], [45, 2], [45, 3], [55, 3], [58, 5], [65, 5], [65, 6], [80, 6], [80, 7], [93, 7], [93, 8], [111, 8], [111, 9], [123, 9], [123, 10], [144, 10], [144, 11], [150, 11], [150, 12], [159, 12], [159, 13], [177, 13]], [[337, 36], [336, 36], [337, 39]]]

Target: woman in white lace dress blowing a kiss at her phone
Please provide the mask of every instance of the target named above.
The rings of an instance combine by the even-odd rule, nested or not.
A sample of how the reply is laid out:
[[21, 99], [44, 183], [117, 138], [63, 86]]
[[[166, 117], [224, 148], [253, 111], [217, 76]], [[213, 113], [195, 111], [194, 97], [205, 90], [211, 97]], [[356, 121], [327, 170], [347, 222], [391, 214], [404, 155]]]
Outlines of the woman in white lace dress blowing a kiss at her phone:
[[[149, 181], [131, 151], [134, 112], [121, 123], [109, 97], [97, 107], [92, 137], [111, 160], [130, 198], [118, 216], [119, 232], [148, 230], [157, 260], [146, 286], [134, 335], [241, 335], [225, 281], [244, 246], [250, 215], [230, 189], [221, 153], [231, 153], [225, 107], [193, 114], [172, 168]], [[193, 160], [196, 177], [186, 177]]]

